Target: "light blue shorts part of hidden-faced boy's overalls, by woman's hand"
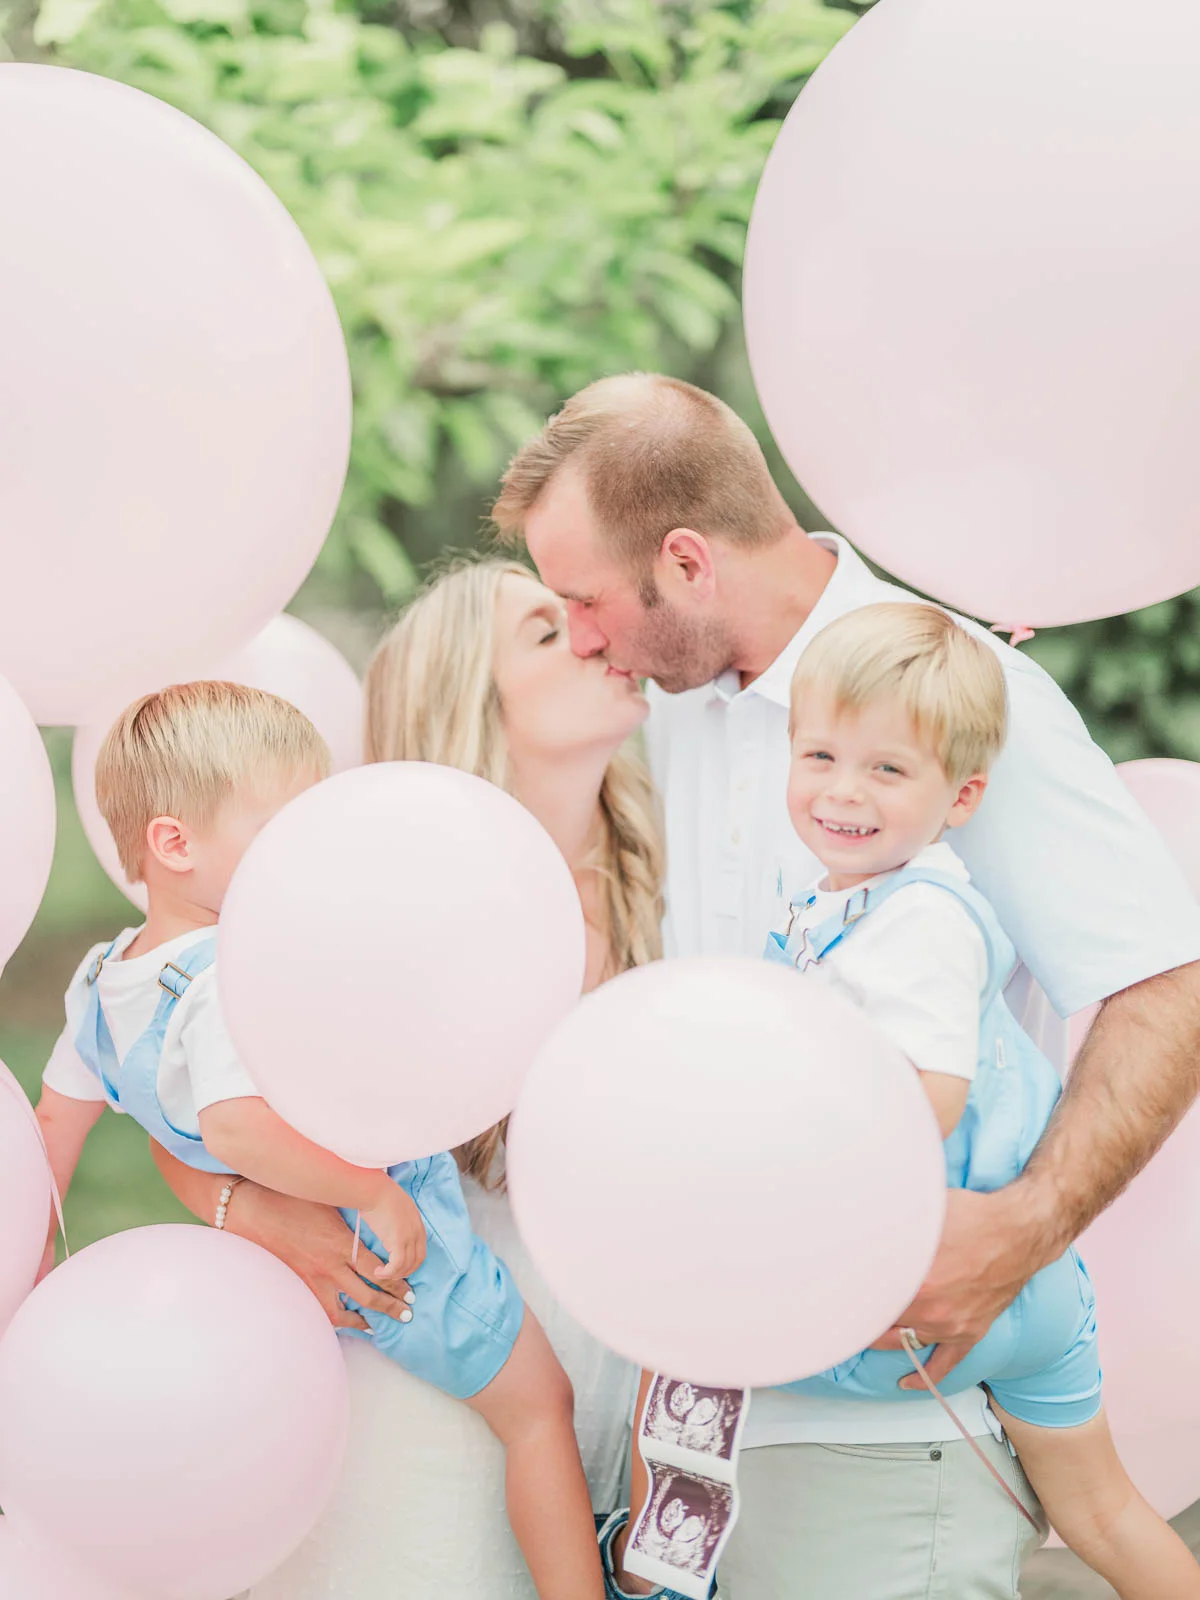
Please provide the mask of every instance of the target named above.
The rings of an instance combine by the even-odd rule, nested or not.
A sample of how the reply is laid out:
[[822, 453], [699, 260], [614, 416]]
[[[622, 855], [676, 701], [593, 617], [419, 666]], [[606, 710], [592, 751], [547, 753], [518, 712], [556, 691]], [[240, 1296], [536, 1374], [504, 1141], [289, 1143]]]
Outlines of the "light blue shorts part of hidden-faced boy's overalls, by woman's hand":
[[[371, 1328], [370, 1334], [355, 1328], [342, 1333], [350, 1339], [370, 1339], [406, 1373], [456, 1400], [467, 1400], [486, 1389], [507, 1362], [525, 1304], [509, 1269], [470, 1227], [453, 1155], [402, 1162], [389, 1168], [389, 1174], [413, 1197], [426, 1224], [426, 1259], [408, 1278], [416, 1296], [413, 1320], [381, 1317], [342, 1296]], [[342, 1216], [354, 1227], [354, 1211], [342, 1211]], [[362, 1238], [387, 1259], [366, 1224]]]

